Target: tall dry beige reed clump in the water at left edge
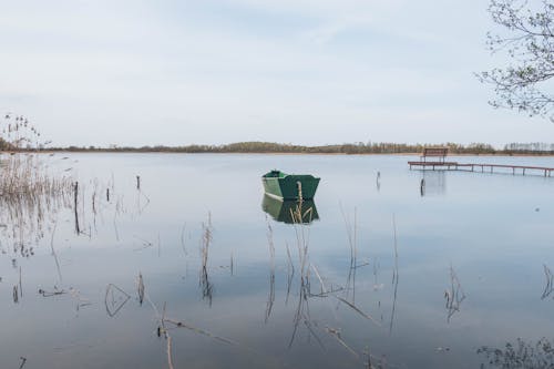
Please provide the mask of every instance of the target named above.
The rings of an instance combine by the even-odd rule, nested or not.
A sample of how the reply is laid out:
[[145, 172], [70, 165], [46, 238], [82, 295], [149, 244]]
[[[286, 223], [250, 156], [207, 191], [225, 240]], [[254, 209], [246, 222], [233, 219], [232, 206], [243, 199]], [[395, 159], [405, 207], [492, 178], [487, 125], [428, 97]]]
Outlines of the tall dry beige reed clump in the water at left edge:
[[45, 143], [27, 117], [8, 113], [0, 129], [0, 245], [29, 256], [44, 236], [44, 221], [71, 206], [72, 183], [49, 168], [51, 156], [40, 154]]

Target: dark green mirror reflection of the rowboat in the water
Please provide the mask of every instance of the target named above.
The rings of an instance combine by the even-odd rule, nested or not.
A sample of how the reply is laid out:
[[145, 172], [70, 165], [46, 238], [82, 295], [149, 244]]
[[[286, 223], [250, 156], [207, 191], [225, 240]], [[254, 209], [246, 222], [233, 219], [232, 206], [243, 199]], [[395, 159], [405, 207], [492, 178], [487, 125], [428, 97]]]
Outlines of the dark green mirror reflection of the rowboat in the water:
[[275, 221], [287, 224], [309, 224], [312, 221], [319, 219], [314, 199], [305, 199], [302, 202], [298, 202], [296, 199], [280, 201], [275, 197], [264, 195], [261, 209], [269, 214]]

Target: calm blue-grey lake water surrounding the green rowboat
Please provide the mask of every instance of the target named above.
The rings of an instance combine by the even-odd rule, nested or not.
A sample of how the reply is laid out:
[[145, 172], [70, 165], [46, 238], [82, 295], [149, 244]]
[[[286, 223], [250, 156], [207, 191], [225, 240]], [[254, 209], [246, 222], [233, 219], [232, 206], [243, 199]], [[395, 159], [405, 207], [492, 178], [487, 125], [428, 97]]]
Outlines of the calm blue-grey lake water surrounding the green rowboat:
[[[72, 195], [2, 209], [0, 367], [552, 366], [554, 177], [411, 158], [49, 156], [79, 233]], [[321, 177], [316, 219], [264, 212], [273, 168]]]

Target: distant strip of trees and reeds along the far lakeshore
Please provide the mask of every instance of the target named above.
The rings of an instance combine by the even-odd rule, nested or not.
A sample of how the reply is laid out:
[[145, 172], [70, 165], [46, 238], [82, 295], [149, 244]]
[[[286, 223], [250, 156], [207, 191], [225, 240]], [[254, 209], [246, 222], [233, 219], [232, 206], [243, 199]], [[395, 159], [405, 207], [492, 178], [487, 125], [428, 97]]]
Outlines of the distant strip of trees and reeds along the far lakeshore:
[[[237, 142], [223, 145], [186, 145], [186, 146], [66, 146], [41, 147], [45, 152], [109, 152], [109, 153], [249, 153], [249, 154], [336, 154], [336, 155], [363, 155], [363, 154], [420, 154], [423, 147], [448, 147], [450, 155], [544, 155], [554, 156], [554, 144], [547, 143], [510, 143], [503, 148], [495, 148], [490, 144], [472, 143], [468, 145], [456, 143], [441, 144], [406, 144], [406, 143], [348, 143], [319, 146], [304, 146], [273, 142]], [[6, 141], [0, 142], [0, 151], [29, 152], [37, 151], [30, 147], [14, 147]]]

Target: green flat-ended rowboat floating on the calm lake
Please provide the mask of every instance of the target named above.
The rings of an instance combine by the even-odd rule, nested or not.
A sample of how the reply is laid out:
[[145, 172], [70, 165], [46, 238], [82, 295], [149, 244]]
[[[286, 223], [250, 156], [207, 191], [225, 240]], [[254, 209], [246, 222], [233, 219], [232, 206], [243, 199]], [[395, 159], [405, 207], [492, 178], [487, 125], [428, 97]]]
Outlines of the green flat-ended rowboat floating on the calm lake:
[[277, 170], [261, 176], [266, 194], [279, 199], [311, 199], [319, 180], [311, 174], [286, 174]]

